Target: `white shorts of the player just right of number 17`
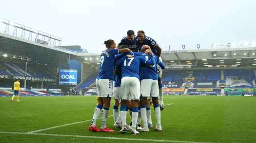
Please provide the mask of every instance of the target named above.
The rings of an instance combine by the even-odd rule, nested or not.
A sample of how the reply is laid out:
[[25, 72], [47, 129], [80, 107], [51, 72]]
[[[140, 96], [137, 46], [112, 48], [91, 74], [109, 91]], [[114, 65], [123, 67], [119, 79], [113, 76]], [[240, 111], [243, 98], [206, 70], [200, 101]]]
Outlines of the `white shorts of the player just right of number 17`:
[[158, 97], [158, 80], [143, 79], [140, 81], [140, 93], [143, 97], [151, 99], [151, 97]]

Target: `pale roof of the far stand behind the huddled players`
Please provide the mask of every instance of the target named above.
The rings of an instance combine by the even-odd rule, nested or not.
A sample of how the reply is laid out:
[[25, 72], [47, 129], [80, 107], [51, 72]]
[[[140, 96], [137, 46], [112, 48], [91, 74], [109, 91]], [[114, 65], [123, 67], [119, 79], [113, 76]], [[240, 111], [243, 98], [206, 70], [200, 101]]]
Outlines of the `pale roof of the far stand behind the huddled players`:
[[[192, 65], [204, 67], [205, 65], [241, 65], [252, 66], [256, 64], [256, 47], [243, 45], [226, 48], [220, 46], [218, 49], [195, 49], [162, 51], [161, 57], [165, 65], [180, 66]], [[99, 63], [100, 53], [77, 53], [80, 61], [94, 64]]]

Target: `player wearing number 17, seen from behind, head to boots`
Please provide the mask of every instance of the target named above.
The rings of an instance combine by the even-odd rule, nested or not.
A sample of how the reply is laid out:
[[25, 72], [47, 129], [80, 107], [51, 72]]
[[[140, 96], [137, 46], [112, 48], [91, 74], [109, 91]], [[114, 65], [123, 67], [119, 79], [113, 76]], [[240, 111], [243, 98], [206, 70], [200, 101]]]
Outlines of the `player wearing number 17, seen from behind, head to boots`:
[[[147, 49], [148, 50], [148, 49]], [[149, 51], [149, 50], [148, 50]], [[152, 55], [152, 51], [149, 51]], [[132, 134], [138, 134], [136, 131], [136, 123], [138, 119], [138, 102], [140, 99], [140, 65], [154, 65], [154, 58], [151, 60], [147, 60], [141, 56], [134, 56], [126, 59], [130, 55], [126, 55], [119, 59], [116, 62], [116, 65], [122, 65], [121, 73], [121, 120], [122, 120], [122, 129], [119, 131], [120, 133], [126, 133], [126, 102], [128, 97], [130, 96], [132, 99]], [[129, 95], [130, 94], [130, 95]]]

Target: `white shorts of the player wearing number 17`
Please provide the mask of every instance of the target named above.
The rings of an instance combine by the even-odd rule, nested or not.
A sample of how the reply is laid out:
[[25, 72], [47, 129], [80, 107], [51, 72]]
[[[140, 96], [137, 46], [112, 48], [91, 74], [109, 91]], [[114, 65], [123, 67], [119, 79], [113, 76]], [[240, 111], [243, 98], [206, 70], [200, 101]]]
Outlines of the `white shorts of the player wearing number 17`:
[[136, 77], [123, 77], [121, 80], [120, 100], [140, 100], [140, 80]]

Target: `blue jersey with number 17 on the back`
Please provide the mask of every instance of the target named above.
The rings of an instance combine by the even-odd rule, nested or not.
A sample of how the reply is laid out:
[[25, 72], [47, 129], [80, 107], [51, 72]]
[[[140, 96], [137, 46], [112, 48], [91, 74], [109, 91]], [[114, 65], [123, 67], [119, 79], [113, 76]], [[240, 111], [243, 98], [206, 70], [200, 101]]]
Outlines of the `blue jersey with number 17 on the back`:
[[155, 63], [154, 58], [151, 58], [151, 60], [147, 60], [146, 58], [141, 56], [134, 56], [127, 59], [125, 57], [118, 60], [119, 61], [118, 63], [122, 64], [122, 67], [121, 67], [122, 78], [129, 76], [129, 77], [136, 77], [140, 80], [140, 65], [146, 65], [146, 64], [154, 65]]

